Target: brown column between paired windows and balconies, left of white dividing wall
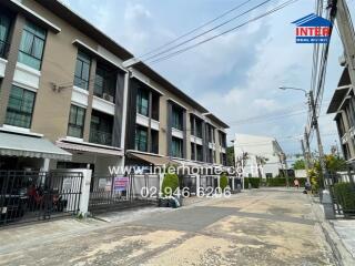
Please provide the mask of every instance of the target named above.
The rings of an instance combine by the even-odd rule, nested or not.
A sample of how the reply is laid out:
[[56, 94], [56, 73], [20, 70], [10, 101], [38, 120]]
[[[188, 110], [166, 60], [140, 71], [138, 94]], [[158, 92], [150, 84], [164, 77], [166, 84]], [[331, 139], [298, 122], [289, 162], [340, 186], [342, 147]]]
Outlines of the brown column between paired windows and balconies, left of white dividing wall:
[[84, 123], [84, 132], [83, 132], [84, 142], [89, 142], [90, 140], [90, 124], [91, 124], [91, 113], [92, 113], [93, 90], [95, 85], [95, 75], [97, 75], [97, 59], [92, 58], [91, 65], [90, 65], [90, 78], [89, 78], [88, 108], [85, 112], [85, 123]]

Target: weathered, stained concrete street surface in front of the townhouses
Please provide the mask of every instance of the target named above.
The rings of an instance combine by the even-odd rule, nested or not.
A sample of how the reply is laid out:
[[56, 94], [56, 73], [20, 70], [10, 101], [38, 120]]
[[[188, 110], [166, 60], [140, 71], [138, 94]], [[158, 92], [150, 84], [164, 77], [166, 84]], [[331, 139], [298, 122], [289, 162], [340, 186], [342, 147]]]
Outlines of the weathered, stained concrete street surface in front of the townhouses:
[[335, 265], [301, 191], [108, 217], [2, 229], [0, 265]]

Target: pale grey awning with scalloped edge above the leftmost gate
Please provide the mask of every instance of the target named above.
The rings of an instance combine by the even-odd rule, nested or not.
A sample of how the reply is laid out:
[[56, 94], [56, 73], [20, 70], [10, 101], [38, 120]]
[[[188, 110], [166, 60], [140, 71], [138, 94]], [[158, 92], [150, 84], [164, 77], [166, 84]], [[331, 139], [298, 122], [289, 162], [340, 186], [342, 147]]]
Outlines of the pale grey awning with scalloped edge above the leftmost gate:
[[0, 132], [0, 155], [71, 161], [69, 152], [45, 139], [4, 132]]

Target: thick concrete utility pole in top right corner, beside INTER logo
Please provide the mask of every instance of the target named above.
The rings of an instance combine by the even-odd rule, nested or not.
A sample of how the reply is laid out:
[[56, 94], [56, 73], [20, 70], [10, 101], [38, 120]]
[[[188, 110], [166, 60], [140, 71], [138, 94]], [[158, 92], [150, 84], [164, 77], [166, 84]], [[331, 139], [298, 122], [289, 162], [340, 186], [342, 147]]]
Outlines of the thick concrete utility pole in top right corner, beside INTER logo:
[[[336, 8], [334, 8], [336, 7]], [[336, 23], [344, 45], [344, 55], [351, 76], [352, 85], [355, 89], [355, 31], [345, 0], [333, 0], [336, 12]]]

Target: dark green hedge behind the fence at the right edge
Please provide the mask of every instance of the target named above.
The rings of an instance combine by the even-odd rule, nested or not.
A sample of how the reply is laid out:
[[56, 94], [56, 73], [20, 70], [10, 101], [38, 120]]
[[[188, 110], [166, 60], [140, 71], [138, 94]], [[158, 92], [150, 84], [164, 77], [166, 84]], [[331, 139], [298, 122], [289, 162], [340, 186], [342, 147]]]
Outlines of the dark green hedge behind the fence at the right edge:
[[335, 198], [342, 205], [344, 215], [355, 215], [355, 187], [351, 183], [334, 185]]

